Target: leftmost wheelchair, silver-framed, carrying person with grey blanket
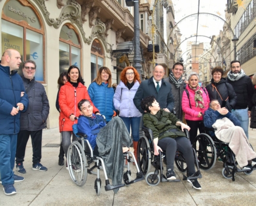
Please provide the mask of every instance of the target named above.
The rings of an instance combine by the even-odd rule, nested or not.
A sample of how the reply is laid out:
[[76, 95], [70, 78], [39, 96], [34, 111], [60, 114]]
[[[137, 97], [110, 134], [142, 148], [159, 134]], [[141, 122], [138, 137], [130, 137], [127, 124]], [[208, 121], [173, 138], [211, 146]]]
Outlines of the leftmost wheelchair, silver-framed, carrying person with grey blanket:
[[[139, 169], [139, 166], [136, 161], [135, 166], [137, 168], [137, 177], [134, 180], [131, 180], [131, 171], [129, 163], [131, 162], [132, 156], [133, 160], [135, 160], [134, 154], [130, 151], [124, 152], [124, 160], [127, 160], [127, 171], [123, 175], [124, 184], [119, 185], [111, 185], [106, 173], [106, 168], [103, 162], [103, 159], [100, 156], [95, 156], [93, 154], [93, 149], [89, 144], [89, 141], [86, 139], [86, 134], [77, 133], [78, 141], [73, 141], [67, 153], [67, 164], [68, 171], [72, 181], [78, 186], [83, 186], [87, 179], [87, 173], [97, 175], [97, 178], [94, 183], [94, 188], [97, 195], [101, 193], [101, 179], [100, 179], [100, 169], [103, 170], [104, 177], [106, 180], [105, 190], [110, 191], [115, 188], [129, 186], [134, 182], [138, 182], [144, 180], [144, 176]], [[94, 163], [94, 165], [90, 168], [90, 164]], [[93, 171], [93, 169], [97, 168], [97, 172]]]

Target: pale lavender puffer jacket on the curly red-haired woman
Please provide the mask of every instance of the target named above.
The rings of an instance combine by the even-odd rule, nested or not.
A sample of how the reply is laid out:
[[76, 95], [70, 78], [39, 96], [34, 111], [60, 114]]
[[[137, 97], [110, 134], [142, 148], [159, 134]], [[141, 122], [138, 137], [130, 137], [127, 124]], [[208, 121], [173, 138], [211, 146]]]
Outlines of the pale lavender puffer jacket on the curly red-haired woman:
[[133, 98], [139, 88], [140, 83], [134, 82], [133, 87], [129, 90], [123, 81], [121, 81], [114, 94], [114, 106], [115, 109], [119, 110], [119, 116], [123, 117], [140, 117], [140, 111], [135, 107]]

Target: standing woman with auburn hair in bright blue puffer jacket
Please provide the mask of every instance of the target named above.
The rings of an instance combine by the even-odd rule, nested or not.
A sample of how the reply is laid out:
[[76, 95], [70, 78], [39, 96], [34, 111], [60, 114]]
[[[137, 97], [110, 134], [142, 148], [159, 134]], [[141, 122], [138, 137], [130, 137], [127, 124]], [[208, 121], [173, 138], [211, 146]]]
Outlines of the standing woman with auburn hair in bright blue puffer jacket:
[[97, 77], [88, 88], [88, 94], [93, 104], [98, 108], [100, 114], [106, 117], [107, 123], [111, 121], [114, 114], [114, 89], [111, 86], [111, 81], [110, 69], [106, 66], [102, 66], [99, 68]]

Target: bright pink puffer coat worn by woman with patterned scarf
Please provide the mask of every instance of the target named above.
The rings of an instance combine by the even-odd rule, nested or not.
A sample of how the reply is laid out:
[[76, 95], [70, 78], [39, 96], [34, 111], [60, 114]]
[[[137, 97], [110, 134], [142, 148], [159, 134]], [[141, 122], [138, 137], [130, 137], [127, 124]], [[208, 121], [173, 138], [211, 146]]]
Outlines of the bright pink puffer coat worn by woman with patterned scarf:
[[[191, 120], [191, 121], [200, 121], [203, 119], [203, 117], [198, 117], [198, 114], [201, 112], [204, 114], [204, 112], [208, 109], [210, 99], [207, 93], [206, 89], [200, 88], [200, 90], [203, 92], [203, 100], [204, 100], [204, 108], [200, 107], [195, 107], [195, 100], [194, 100], [194, 95], [195, 95], [195, 90], [192, 90], [189, 85], [186, 86], [186, 89], [188, 90], [189, 93], [189, 99], [190, 99], [190, 104], [191, 108], [189, 105], [189, 99], [186, 91], [183, 92], [182, 96], [182, 110], [185, 113], [185, 119]], [[206, 92], [206, 93], [205, 93]]]

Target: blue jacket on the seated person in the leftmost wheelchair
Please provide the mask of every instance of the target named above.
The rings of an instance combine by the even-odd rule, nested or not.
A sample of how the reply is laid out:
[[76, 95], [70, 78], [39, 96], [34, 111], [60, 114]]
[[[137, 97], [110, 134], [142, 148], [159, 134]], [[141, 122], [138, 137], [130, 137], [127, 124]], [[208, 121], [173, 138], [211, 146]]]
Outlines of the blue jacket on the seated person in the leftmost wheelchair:
[[102, 127], [106, 126], [104, 119], [100, 115], [93, 114], [92, 117], [80, 115], [78, 118], [78, 132], [87, 135], [87, 140], [94, 149], [96, 146], [96, 138]]

